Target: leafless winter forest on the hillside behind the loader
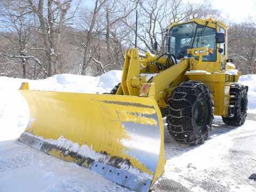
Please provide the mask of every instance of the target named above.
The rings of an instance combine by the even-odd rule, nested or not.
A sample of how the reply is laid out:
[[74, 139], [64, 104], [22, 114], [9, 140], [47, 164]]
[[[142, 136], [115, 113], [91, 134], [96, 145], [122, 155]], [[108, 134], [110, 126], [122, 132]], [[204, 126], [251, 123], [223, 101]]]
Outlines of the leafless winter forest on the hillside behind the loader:
[[42, 79], [122, 70], [125, 50], [135, 46], [136, 10], [140, 52], [165, 52], [170, 20], [187, 21], [198, 13], [227, 23], [228, 58], [243, 75], [256, 74], [255, 18], [231, 21], [210, 1], [1, 0], [0, 76]]

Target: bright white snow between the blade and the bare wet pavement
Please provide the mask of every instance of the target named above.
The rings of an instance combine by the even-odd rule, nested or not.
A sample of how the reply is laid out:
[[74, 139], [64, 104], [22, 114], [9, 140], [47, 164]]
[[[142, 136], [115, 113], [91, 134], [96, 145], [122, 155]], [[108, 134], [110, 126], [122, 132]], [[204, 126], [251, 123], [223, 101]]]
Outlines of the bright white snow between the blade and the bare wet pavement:
[[[191, 189], [195, 189], [195, 191], [203, 191], [201, 189], [198, 190], [198, 188], [192, 187], [193, 183], [189, 183], [185, 178], [183, 178], [183, 175], [186, 175], [186, 177], [190, 178], [191, 180], [195, 179], [202, 181], [210, 179], [209, 175], [206, 174], [206, 170], [217, 169], [228, 172], [228, 167], [232, 162], [227, 161], [227, 159], [223, 157], [228, 155], [228, 149], [233, 146], [234, 135], [242, 135], [241, 137], [247, 137], [252, 133], [256, 133], [255, 124], [255, 122], [247, 120], [245, 121], [244, 125], [238, 127], [238, 129], [234, 129], [233, 127], [227, 127], [227, 125], [222, 122], [221, 117], [214, 116], [214, 129], [210, 132], [209, 139], [207, 139], [203, 145], [192, 146], [190, 149], [188, 149], [187, 146], [180, 146], [177, 143], [165, 145], [165, 151], [172, 151], [172, 154], [165, 153], [166, 164], [163, 177], [179, 182], [187, 188], [190, 187]], [[225, 128], [221, 127], [220, 125], [225, 126]], [[225, 133], [223, 134], [223, 132]], [[167, 141], [167, 143], [169, 142]], [[197, 174], [195, 174], [194, 170], [196, 170]], [[222, 186], [227, 186], [227, 183], [233, 184], [234, 189], [230, 191], [243, 191], [241, 188], [238, 189], [238, 185], [234, 180], [227, 180], [227, 178], [216, 178], [216, 180]], [[243, 189], [253, 189], [251, 186], [240, 187]]]

